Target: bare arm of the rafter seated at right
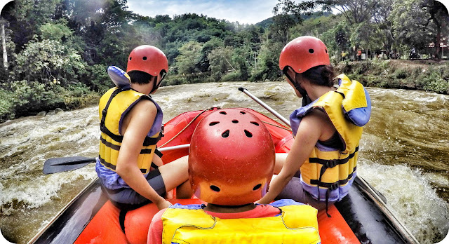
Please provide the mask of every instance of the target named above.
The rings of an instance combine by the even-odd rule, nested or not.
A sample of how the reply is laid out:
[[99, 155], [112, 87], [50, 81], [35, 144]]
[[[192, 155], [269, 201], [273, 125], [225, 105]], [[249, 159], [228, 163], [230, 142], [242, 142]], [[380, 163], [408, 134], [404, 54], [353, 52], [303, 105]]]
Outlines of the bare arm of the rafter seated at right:
[[274, 177], [269, 185], [269, 191], [262, 199], [257, 201], [257, 203], [268, 204], [274, 201], [274, 198], [281, 193], [297, 170], [300, 170], [304, 161], [307, 160], [311, 150], [314, 149], [316, 142], [322, 135], [322, 128], [326, 126], [327, 123], [327, 119], [323, 118], [323, 116], [318, 113], [321, 112], [312, 112], [302, 119], [300, 127], [297, 130], [295, 141], [283, 164], [281, 172]]

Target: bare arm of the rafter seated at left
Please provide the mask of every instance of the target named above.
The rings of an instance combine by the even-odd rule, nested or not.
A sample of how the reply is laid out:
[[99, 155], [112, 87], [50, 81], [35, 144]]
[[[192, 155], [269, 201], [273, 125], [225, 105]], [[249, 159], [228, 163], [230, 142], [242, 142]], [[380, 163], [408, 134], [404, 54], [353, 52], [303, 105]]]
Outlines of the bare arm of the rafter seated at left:
[[156, 112], [156, 106], [152, 102], [142, 100], [135, 104], [135, 107], [126, 115], [122, 127], [123, 141], [117, 159], [116, 172], [129, 187], [156, 203], [161, 209], [166, 208], [170, 203], [154, 191], [138, 168], [138, 156], [143, 141], [152, 128]]

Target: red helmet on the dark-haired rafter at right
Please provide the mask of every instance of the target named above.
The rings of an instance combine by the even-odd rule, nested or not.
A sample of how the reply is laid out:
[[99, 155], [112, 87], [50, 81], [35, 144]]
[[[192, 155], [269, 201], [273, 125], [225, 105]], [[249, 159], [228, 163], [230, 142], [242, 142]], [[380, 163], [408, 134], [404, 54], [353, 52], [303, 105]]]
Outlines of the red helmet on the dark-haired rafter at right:
[[319, 65], [330, 65], [328, 48], [314, 36], [300, 36], [287, 43], [279, 56], [279, 68], [292, 67], [296, 73]]

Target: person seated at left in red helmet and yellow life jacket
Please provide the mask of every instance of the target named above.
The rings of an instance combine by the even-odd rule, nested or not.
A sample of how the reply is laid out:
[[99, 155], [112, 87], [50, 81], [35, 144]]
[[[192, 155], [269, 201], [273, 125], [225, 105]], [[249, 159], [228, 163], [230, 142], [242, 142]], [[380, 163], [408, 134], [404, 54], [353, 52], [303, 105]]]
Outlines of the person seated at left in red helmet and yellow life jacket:
[[122, 210], [149, 201], [167, 208], [171, 204], [164, 194], [183, 183], [187, 187], [178, 197], [192, 196], [187, 157], [163, 165], [156, 149], [163, 114], [150, 94], [167, 72], [168, 61], [159, 48], [138, 46], [130, 53], [124, 74], [130, 82], [111, 88], [100, 99], [100, 154], [95, 170], [112, 203]]

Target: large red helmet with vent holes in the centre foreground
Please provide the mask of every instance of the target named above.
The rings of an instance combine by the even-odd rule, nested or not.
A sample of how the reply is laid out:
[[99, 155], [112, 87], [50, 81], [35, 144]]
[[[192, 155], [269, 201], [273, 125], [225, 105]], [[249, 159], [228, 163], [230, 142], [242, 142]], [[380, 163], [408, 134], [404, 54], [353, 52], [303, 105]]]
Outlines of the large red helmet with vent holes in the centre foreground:
[[259, 118], [243, 109], [204, 117], [192, 135], [189, 179], [195, 195], [217, 205], [244, 205], [267, 193], [274, 144]]

